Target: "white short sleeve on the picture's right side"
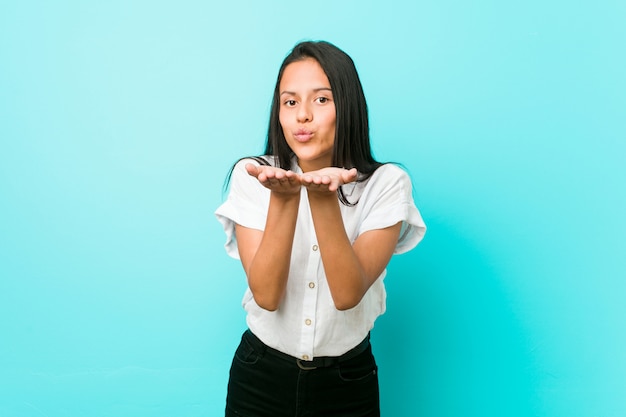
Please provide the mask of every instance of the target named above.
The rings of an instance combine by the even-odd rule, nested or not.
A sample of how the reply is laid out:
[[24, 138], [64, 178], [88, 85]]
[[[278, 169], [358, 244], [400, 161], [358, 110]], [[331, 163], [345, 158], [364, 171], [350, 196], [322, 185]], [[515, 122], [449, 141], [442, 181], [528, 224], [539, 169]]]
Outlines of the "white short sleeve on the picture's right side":
[[392, 164], [378, 168], [368, 180], [362, 200], [358, 203], [365, 205], [359, 234], [402, 222], [395, 254], [413, 249], [424, 237], [426, 224], [413, 201], [411, 179], [401, 168]]

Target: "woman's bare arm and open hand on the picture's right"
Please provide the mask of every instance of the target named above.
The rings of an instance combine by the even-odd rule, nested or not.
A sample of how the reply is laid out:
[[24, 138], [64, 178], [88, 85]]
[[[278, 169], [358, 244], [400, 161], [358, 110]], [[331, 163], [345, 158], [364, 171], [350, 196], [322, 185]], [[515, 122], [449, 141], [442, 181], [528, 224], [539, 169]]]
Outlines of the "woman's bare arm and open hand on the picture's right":
[[401, 223], [370, 230], [351, 244], [343, 224], [336, 185], [356, 179], [351, 171], [324, 169], [303, 175], [328, 286], [339, 310], [355, 307], [393, 254]]

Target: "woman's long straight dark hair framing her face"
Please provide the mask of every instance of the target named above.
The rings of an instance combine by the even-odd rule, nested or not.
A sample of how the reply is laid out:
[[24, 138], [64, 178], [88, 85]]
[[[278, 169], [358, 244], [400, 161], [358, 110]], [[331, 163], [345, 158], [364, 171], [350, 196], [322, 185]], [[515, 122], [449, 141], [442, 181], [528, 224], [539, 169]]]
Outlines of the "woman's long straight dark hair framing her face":
[[[363, 86], [352, 58], [329, 42], [298, 43], [280, 66], [270, 110], [264, 155], [273, 156], [280, 168], [291, 169], [294, 153], [287, 144], [279, 120], [280, 81], [289, 64], [309, 58], [320, 64], [333, 92], [336, 122], [331, 166], [356, 168], [359, 172], [359, 181], [365, 181], [382, 163], [374, 159], [371, 151], [367, 103]], [[262, 157], [254, 159], [263, 165], [269, 165], [269, 161]], [[342, 203], [356, 204], [346, 199], [341, 187], [338, 194]]]

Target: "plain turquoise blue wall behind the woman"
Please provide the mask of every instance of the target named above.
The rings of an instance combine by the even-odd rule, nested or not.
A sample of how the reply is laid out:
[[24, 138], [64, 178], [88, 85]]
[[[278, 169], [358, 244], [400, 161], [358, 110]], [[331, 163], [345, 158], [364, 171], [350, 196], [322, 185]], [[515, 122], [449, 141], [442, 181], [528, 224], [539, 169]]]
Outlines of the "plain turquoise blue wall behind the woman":
[[626, 415], [626, 3], [5, 1], [0, 416], [223, 415], [213, 211], [299, 40], [357, 63], [429, 226], [373, 331], [384, 416]]

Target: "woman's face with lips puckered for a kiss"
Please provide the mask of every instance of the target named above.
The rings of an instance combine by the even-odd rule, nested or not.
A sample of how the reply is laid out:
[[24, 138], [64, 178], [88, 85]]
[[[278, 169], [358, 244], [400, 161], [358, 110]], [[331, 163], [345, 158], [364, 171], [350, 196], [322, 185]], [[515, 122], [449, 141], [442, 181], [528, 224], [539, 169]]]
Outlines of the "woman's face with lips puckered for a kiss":
[[329, 167], [335, 143], [335, 102], [328, 77], [308, 58], [285, 68], [279, 84], [279, 120], [302, 171]]

